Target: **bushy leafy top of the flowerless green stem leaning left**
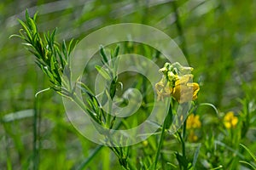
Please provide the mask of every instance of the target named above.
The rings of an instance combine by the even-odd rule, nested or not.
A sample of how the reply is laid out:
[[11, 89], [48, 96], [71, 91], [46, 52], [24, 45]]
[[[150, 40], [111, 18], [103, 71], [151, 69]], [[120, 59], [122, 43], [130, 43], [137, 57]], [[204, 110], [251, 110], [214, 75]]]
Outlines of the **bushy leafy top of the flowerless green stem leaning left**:
[[[49, 77], [49, 82], [53, 84], [52, 88], [60, 92], [61, 76], [65, 66], [68, 66], [68, 58], [74, 43], [72, 40], [67, 47], [65, 41], [61, 45], [55, 42], [56, 29], [51, 33], [49, 31], [44, 33], [44, 39], [40, 37], [36, 24], [37, 16], [38, 14], [34, 14], [33, 18], [30, 18], [26, 10], [26, 22], [19, 20], [23, 27], [20, 30], [20, 35], [13, 35], [12, 37], [20, 37], [24, 41], [23, 44], [36, 57], [38, 67]], [[66, 76], [71, 77], [69, 74]]]

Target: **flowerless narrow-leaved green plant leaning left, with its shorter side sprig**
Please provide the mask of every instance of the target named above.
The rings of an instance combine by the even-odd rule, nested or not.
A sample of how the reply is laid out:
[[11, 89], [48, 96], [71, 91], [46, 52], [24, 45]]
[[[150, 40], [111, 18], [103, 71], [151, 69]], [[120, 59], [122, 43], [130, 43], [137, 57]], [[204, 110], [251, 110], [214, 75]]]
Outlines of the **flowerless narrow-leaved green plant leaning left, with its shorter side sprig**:
[[[14, 35], [13, 37], [20, 37], [24, 42], [23, 44], [26, 48], [35, 55], [36, 63], [39, 68], [44, 71], [44, 74], [49, 77], [49, 82], [51, 82], [51, 89], [54, 89], [58, 94], [61, 94], [68, 99], [72, 99], [77, 105], [79, 105], [84, 111], [90, 113], [90, 117], [95, 120], [97, 123], [102, 126], [112, 128], [115, 117], [106, 116], [108, 114], [102, 110], [99, 102], [96, 99], [96, 96], [90, 92], [90, 89], [83, 83], [77, 82], [73, 87], [71, 84], [71, 74], [69, 71], [69, 57], [75, 47], [73, 40], [69, 42], [68, 46], [65, 41], [61, 43], [55, 42], [55, 32], [44, 33], [43, 37], [38, 32], [38, 27], [36, 25], [37, 14], [31, 18], [26, 11], [26, 22], [20, 21], [20, 25], [23, 27], [20, 30], [20, 35]], [[111, 65], [108, 63], [108, 57], [104, 52], [104, 49], [101, 48], [102, 62], [107, 64], [110, 68]], [[114, 58], [119, 54], [119, 47], [115, 49], [111, 58]], [[113, 65], [114, 66], [114, 65]], [[102, 70], [99, 66], [96, 65], [96, 69], [102, 74], [103, 77], [112, 77], [111, 82], [109, 83], [108, 89], [105, 91], [105, 95], [113, 98], [115, 94], [115, 89], [117, 86], [117, 77], [114, 72], [114, 68], [111, 70]], [[64, 72], [66, 71], [66, 72]], [[67, 81], [65, 82], [61, 76], [65, 74]], [[81, 88], [86, 95], [86, 104], [79, 99], [77, 94], [75, 94], [75, 88]], [[96, 114], [95, 114], [96, 113]], [[109, 147], [113, 150], [113, 153], [119, 157], [119, 163], [125, 169], [132, 169], [133, 167], [128, 163], [128, 153], [129, 148], [123, 147]], [[100, 150], [100, 148], [98, 149]], [[37, 163], [37, 162], [35, 162]]]

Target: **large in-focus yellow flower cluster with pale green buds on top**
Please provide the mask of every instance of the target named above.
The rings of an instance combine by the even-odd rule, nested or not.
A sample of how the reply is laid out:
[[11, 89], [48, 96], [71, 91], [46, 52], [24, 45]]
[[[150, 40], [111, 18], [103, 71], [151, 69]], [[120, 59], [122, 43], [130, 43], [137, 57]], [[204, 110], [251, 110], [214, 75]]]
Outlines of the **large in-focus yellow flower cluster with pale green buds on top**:
[[197, 99], [197, 93], [200, 90], [198, 83], [192, 82], [192, 67], [185, 67], [179, 63], [166, 63], [160, 69], [164, 75], [160, 82], [155, 84], [155, 90], [158, 99], [163, 100], [165, 97], [172, 96], [179, 103], [189, 102]]

